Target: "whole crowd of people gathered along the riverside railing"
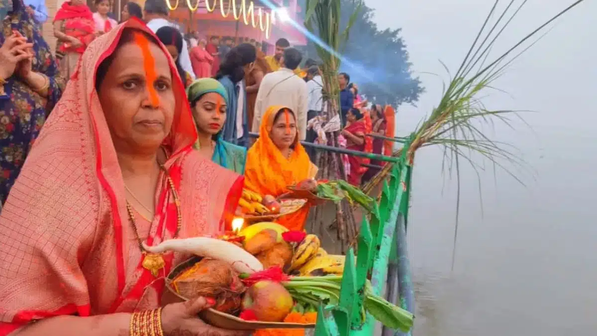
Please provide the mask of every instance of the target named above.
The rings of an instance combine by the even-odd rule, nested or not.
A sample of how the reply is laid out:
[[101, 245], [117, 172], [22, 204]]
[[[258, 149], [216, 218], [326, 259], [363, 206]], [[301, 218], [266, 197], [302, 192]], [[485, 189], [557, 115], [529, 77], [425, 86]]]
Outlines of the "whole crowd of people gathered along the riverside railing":
[[[155, 276], [144, 245], [230, 230], [243, 188], [278, 197], [315, 178], [301, 140], [328, 143], [329, 127], [347, 149], [387, 154], [371, 135], [388, 134], [391, 108], [367, 107], [343, 73], [324, 126], [319, 65], [301, 67], [284, 38], [266, 56], [256, 41], [183, 36], [161, 0], [128, 2], [121, 25], [107, 0], [94, 13], [70, 0], [52, 53], [42, 7], [0, 1], [0, 336], [247, 335], [196, 317], [211, 298], [162, 300], [187, 256], [164, 255]], [[355, 185], [381, 165], [344, 159]], [[309, 209], [278, 221], [303, 230]]]

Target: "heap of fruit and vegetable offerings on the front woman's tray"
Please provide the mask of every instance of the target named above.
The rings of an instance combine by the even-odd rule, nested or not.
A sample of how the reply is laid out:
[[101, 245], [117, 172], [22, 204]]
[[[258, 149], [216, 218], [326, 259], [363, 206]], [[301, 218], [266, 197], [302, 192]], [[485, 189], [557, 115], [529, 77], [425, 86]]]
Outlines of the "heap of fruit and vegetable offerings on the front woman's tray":
[[[328, 255], [314, 234], [273, 222], [249, 225], [238, 236], [167, 240], [147, 251], [196, 255], [173, 268], [167, 287], [182, 300], [215, 298], [202, 318], [216, 326], [314, 328], [315, 319], [300, 316], [340, 298], [344, 256]], [[362, 316], [369, 312], [390, 328], [410, 329], [412, 314], [366, 292]]]

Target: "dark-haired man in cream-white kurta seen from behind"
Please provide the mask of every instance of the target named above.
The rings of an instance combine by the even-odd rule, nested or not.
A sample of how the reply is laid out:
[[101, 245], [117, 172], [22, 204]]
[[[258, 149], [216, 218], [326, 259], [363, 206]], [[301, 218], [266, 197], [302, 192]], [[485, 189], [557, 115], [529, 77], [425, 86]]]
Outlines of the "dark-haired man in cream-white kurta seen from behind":
[[298, 139], [304, 140], [307, 132], [307, 83], [293, 72], [301, 59], [303, 56], [300, 51], [287, 48], [281, 59], [282, 68], [263, 77], [257, 91], [251, 132], [259, 133], [261, 118], [269, 106], [283, 105], [296, 115]]

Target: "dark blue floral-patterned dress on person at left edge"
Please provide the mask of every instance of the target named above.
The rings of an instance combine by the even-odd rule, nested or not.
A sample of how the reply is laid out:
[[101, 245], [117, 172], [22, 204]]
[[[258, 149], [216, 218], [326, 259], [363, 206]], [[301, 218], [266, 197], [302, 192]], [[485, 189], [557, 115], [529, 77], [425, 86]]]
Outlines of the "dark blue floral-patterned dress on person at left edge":
[[[7, 8], [12, 2], [13, 8]], [[33, 18], [27, 14], [22, 0], [1, 1], [0, 8], [7, 16], [2, 20], [0, 45], [5, 36], [18, 30], [27, 41], [33, 42], [32, 71], [50, 79], [48, 97], [42, 97], [19, 80], [16, 75], [5, 78], [4, 93], [0, 95], [0, 201], [4, 203], [33, 141], [54, 105], [60, 99], [64, 80], [58, 75], [58, 67], [50, 47], [44, 41]], [[0, 90], [2, 91], [2, 90]]]

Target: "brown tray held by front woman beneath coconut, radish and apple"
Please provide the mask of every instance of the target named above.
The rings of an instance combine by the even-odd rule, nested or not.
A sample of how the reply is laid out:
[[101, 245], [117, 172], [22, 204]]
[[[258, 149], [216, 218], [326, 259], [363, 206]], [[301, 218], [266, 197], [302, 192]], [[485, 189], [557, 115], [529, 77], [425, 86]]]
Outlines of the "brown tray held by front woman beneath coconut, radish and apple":
[[[174, 279], [182, 273], [187, 268], [192, 267], [197, 262], [201, 261], [201, 257], [193, 256], [192, 258], [188, 259], [187, 261], [181, 262], [181, 264], [177, 265], [170, 271], [168, 277], [166, 278], [166, 287], [170, 292], [174, 295], [179, 297], [180, 299], [187, 301], [188, 298], [182, 297], [176, 292], [176, 289], [173, 288], [171, 285]], [[205, 323], [210, 325], [216, 326], [222, 329], [229, 329], [229, 330], [257, 330], [257, 329], [271, 329], [271, 328], [278, 328], [278, 329], [313, 329], [315, 328], [315, 323], [286, 323], [286, 322], [259, 322], [259, 321], [245, 321], [239, 317], [234, 315], [222, 313], [221, 311], [217, 311], [212, 308], [208, 308], [206, 310], [201, 311], [199, 313], [199, 317], [204, 320]]]

